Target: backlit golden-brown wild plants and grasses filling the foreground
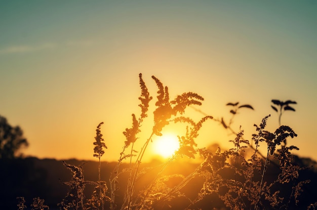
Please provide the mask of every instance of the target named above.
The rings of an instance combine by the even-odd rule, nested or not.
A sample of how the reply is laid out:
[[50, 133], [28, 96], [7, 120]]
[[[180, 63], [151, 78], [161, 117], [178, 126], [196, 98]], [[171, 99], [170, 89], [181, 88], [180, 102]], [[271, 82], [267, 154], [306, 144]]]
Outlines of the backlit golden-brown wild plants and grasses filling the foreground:
[[[305, 192], [310, 180], [301, 177], [307, 172], [307, 166], [294, 160], [289, 140], [297, 134], [288, 126], [281, 125], [274, 132], [266, 130], [268, 116], [255, 124], [255, 134], [250, 140], [244, 138], [244, 131], [235, 132], [231, 128], [232, 118], [240, 109], [253, 109], [251, 105], [228, 103], [232, 118], [226, 123], [223, 118], [204, 116], [195, 122], [185, 115], [189, 106], [199, 106], [204, 98], [196, 93], [183, 93], [170, 100], [169, 89], [152, 76], [157, 86], [157, 96], [153, 111], [152, 130], [146, 139], [139, 138], [142, 123], [148, 117], [150, 96], [142, 74], [139, 74], [141, 96], [140, 114], [132, 114], [132, 126], [123, 134], [123, 151], [118, 154], [118, 162], [108, 172], [108, 179], [102, 179], [101, 158], [107, 149], [101, 126], [98, 124], [94, 142], [94, 156], [98, 159], [98, 180], [88, 181], [83, 173], [83, 165], [74, 165], [63, 161], [63, 165], [73, 174], [64, 182], [69, 191], [58, 204], [60, 209], [297, 209], [303, 208], [301, 194]], [[272, 109], [279, 113], [279, 122], [284, 111], [295, 111], [294, 101], [272, 100]], [[229, 140], [229, 150], [221, 148], [215, 151], [200, 148], [195, 140], [199, 136], [204, 122], [212, 120], [220, 123], [224, 129], [235, 134]], [[178, 133], [179, 149], [166, 162], [144, 164], [148, 145], [154, 136], [162, 136], [165, 127], [181, 124], [186, 129]], [[145, 132], [146, 133], [146, 132]], [[143, 141], [140, 151], [134, 146]], [[252, 144], [251, 144], [252, 142]], [[259, 146], [266, 153], [259, 152]], [[251, 151], [251, 152], [250, 152]], [[175, 163], [182, 157], [199, 158], [189, 170], [171, 172]], [[128, 163], [125, 163], [128, 162]], [[177, 165], [176, 164], [176, 165]], [[177, 166], [176, 166], [177, 167]], [[85, 189], [94, 190], [87, 197]], [[23, 195], [21, 195], [23, 196]], [[317, 200], [304, 202], [304, 209], [315, 209]], [[32, 209], [48, 209], [44, 199], [35, 197], [30, 205]], [[18, 209], [26, 208], [24, 197], [18, 197]]]

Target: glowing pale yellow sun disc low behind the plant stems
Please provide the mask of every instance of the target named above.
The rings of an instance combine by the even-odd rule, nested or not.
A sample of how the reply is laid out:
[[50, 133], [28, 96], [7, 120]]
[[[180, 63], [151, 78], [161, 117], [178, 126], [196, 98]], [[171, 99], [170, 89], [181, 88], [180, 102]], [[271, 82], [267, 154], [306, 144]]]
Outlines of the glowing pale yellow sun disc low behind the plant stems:
[[153, 152], [163, 158], [172, 157], [178, 148], [178, 138], [173, 134], [163, 134], [153, 140]]

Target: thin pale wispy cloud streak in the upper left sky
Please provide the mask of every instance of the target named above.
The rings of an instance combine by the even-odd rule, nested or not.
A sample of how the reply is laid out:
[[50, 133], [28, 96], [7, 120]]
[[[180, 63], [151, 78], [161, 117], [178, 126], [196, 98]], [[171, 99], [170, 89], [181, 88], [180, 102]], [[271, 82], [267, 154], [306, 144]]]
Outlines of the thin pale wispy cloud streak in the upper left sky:
[[63, 44], [57, 43], [44, 43], [38, 45], [17, 45], [17, 46], [9, 46], [6, 48], [0, 48], [0, 55], [4, 54], [19, 54], [19, 53], [30, 53], [37, 52], [43, 50], [54, 50], [62, 47], [89, 47], [93, 45], [93, 41], [91, 40], [73, 40], [67, 41]]

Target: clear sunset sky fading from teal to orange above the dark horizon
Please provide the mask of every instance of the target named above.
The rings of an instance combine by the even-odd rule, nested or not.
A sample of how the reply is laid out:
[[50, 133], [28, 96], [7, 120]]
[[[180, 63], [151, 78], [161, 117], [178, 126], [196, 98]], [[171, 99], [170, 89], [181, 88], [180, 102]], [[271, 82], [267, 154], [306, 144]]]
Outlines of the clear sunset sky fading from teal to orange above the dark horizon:
[[[102, 158], [115, 161], [131, 114], [140, 114], [142, 73], [154, 99], [152, 75], [171, 99], [203, 96], [195, 108], [217, 119], [230, 119], [228, 102], [252, 105], [232, 124], [246, 139], [268, 114], [267, 129], [279, 127], [272, 99], [296, 101], [282, 124], [298, 134], [290, 140], [296, 154], [317, 160], [316, 21], [315, 1], [1, 1], [0, 115], [24, 131], [23, 153], [39, 158], [96, 159], [103, 121]], [[186, 113], [204, 117], [191, 107]], [[151, 114], [143, 123], [140, 142]], [[197, 144], [229, 148], [230, 139], [208, 121]]]

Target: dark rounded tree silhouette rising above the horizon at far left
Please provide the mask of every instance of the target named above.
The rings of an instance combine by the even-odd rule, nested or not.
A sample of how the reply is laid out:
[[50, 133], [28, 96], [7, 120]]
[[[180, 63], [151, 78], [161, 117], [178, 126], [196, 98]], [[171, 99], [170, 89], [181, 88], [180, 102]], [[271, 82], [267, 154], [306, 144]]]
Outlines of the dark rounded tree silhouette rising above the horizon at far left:
[[0, 158], [14, 158], [21, 146], [28, 146], [21, 128], [12, 127], [7, 119], [0, 115]]

